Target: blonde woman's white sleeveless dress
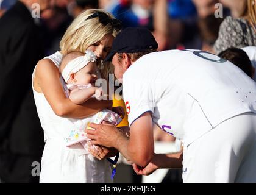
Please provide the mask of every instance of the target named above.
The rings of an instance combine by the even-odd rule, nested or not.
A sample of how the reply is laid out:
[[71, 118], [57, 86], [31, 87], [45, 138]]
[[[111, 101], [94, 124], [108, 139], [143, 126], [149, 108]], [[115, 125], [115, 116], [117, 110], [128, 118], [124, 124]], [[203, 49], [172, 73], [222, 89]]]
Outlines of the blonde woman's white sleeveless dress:
[[[62, 60], [60, 52], [47, 58], [59, 68]], [[34, 75], [35, 70], [32, 78]], [[64, 84], [62, 77], [60, 81]], [[97, 160], [90, 154], [79, 155], [79, 149], [66, 147], [64, 138], [73, 128], [73, 123], [55, 115], [43, 93], [38, 93], [34, 88], [33, 92], [45, 141], [40, 182], [112, 182], [107, 160]]]

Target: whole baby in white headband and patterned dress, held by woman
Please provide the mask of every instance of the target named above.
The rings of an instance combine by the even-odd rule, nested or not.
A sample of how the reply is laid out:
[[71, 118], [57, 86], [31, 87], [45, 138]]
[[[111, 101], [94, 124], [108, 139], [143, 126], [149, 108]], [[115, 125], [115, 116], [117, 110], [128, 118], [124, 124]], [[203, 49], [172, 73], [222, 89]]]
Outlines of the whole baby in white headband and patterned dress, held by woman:
[[[66, 82], [66, 96], [74, 104], [82, 104], [92, 96], [101, 99], [102, 89], [95, 87], [97, 79], [96, 55], [87, 50], [85, 54], [81, 52], [71, 52], [63, 57], [60, 65], [60, 72]], [[121, 118], [115, 112], [104, 109], [93, 116], [82, 119], [70, 119], [74, 124], [74, 129], [65, 138], [66, 146], [73, 146], [80, 143], [84, 149], [88, 149], [90, 139], [84, 133], [88, 122], [101, 123], [102, 121], [111, 122], [115, 126], [121, 122]], [[90, 144], [91, 146], [91, 144]], [[96, 147], [94, 147], [96, 149]], [[84, 150], [85, 153], [87, 150]]]

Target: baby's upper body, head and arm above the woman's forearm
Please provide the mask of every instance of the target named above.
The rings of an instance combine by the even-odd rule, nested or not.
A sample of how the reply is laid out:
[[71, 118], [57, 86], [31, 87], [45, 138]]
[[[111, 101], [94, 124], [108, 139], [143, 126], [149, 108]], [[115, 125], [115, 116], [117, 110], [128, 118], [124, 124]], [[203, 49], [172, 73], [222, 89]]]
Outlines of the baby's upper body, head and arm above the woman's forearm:
[[101, 88], [94, 87], [97, 79], [96, 55], [91, 51], [87, 54], [71, 52], [63, 57], [60, 64], [60, 72], [66, 82], [66, 96], [74, 104], [82, 104], [93, 94], [99, 99], [102, 94]]

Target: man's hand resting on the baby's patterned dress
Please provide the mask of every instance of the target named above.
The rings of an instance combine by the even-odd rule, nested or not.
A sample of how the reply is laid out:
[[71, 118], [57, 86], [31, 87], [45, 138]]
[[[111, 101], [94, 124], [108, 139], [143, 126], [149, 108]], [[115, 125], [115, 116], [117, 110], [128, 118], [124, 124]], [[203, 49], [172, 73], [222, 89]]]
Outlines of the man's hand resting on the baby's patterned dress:
[[102, 145], [105, 147], [116, 147], [116, 141], [122, 133], [119, 130], [110, 124], [95, 124], [90, 123], [89, 127], [93, 128], [86, 129], [87, 137], [91, 139], [91, 144]]

